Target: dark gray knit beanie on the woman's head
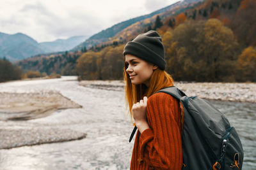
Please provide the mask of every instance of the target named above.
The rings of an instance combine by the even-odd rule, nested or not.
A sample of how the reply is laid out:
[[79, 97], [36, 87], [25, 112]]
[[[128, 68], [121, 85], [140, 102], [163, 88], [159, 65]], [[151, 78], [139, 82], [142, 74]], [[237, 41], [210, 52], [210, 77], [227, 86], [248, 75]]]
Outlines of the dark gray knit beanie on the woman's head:
[[129, 41], [123, 54], [127, 53], [156, 64], [159, 69], [165, 69], [164, 46], [156, 31], [148, 31]]

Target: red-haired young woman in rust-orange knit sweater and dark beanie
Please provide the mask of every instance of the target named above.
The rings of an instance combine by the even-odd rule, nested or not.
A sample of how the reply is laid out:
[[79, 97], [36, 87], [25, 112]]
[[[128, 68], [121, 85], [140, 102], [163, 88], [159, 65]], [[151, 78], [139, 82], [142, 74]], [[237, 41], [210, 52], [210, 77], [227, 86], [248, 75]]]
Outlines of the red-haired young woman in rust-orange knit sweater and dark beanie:
[[124, 56], [125, 99], [138, 128], [131, 169], [181, 169], [182, 105], [156, 93], [173, 85], [164, 71], [161, 37], [156, 31], [138, 35], [125, 45]]

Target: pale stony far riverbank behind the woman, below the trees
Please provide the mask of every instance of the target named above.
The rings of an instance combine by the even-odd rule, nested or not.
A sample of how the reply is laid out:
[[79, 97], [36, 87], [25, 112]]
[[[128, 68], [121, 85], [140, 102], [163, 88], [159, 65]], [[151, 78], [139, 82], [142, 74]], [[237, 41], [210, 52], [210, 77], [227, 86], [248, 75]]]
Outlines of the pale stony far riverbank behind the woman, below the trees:
[[[79, 85], [106, 90], [124, 90], [123, 81], [80, 81]], [[185, 83], [174, 85], [188, 96], [221, 101], [256, 103], [256, 83]]]

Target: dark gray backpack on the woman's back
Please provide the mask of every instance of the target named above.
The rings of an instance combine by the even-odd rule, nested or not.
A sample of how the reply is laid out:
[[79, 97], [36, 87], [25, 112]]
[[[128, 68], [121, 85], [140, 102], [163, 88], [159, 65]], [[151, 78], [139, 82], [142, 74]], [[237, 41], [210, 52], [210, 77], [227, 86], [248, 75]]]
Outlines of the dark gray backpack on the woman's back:
[[242, 169], [243, 146], [223, 113], [199, 97], [188, 97], [177, 87], [159, 90], [182, 103], [184, 169]]

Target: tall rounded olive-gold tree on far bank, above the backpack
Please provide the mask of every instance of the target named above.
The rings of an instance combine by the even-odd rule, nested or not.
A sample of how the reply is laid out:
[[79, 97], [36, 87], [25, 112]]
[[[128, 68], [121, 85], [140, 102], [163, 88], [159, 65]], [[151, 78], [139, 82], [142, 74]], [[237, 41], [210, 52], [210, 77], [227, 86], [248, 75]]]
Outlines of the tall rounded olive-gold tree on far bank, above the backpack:
[[236, 51], [238, 43], [234, 33], [220, 20], [210, 19], [204, 26], [204, 41], [200, 53], [207, 57], [211, 67], [209, 77], [212, 81], [234, 81]]

